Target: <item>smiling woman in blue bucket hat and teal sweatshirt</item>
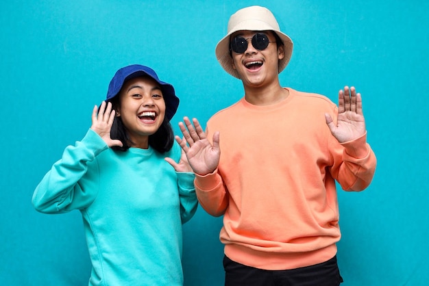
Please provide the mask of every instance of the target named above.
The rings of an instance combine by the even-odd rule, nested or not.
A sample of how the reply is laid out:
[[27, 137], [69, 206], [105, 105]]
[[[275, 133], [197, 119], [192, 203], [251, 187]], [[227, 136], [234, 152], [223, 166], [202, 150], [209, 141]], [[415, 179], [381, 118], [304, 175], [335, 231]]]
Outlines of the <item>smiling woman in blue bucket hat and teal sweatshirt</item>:
[[36, 187], [38, 211], [81, 211], [89, 285], [183, 285], [182, 224], [197, 197], [169, 123], [178, 105], [151, 68], [119, 69], [88, 133]]

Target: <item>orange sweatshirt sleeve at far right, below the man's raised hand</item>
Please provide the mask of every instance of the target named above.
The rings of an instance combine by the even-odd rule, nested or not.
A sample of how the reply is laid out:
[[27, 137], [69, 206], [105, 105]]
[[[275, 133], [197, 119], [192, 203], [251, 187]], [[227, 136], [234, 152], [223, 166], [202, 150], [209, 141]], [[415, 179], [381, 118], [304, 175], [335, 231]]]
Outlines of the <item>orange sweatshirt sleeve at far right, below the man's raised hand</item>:
[[367, 144], [367, 133], [339, 146], [331, 174], [343, 190], [355, 192], [365, 190], [373, 179], [377, 165], [376, 155]]

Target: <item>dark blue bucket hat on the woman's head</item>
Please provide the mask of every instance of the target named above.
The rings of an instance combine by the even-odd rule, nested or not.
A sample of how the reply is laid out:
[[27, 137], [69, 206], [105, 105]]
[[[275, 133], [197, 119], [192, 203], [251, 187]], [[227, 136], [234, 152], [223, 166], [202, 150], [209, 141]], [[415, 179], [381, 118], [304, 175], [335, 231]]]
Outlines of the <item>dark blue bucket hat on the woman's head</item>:
[[158, 75], [155, 73], [155, 70], [147, 66], [132, 64], [131, 66], [120, 68], [117, 73], [114, 74], [114, 77], [109, 83], [106, 101], [109, 101], [110, 99], [114, 98], [114, 96], [117, 96], [119, 91], [121, 91], [125, 81], [142, 76], [149, 76], [160, 85], [166, 107], [165, 116], [168, 118], [168, 120], [171, 120], [177, 111], [177, 107], [179, 107], [179, 98], [175, 95], [173, 86], [171, 86], [170, 83], [160, 81], [160, 79], [158, 79]]

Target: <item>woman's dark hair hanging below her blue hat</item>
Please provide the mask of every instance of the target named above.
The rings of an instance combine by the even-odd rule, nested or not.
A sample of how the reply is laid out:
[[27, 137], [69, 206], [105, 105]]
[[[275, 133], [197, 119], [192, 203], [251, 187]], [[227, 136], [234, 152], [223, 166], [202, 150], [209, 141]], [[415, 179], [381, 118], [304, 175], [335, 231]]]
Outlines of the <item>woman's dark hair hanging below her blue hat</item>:
[[[119, 103], [119, 94], [114, 96], [110, 100], [112, 103], [112, 108], [118, 110], [120, 107]], [[121, 116], [117, 116], [113, 120], [112, 129], [110, 129], [110, 138], [121, 140], [123, 146], [112, 146], [112, 149], [119, 151], [127, 151], [134, 142], [132, 142], [130, 135], [128, 134], [127, 129], [123, 125]], [[149, 146], [154, 148], [159, 153], [165, 153], [173, 147], [174, 142], [174, 133], [171, 128], [170, 122], [167, 117], [164, 117], [164, 121], [160, 128], [152, 135], [149, 135]]]

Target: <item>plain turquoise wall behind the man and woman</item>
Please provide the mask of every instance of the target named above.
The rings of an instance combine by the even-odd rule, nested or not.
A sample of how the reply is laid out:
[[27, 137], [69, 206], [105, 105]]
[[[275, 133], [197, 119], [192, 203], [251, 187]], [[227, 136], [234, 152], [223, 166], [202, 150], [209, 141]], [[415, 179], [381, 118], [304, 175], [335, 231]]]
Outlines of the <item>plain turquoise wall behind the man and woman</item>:
[[[230, 14], [265, 5], [295, 49], [283, 86], [336, 102], [363, 94], [373, 183], [339, 191], [345, 286], [428, 285], [428, 1], [6, 1], [0, 8], [0, 285], [87, 285], [78, 211], [37, 213], [38, 181], [90, 127], [121, 66], [173, 83], [182, 116], [205, 124], [243, 96], [217, 63]], [[221, 218], [199, 208], [184, 225], [185, 285], [223, 285]]]

